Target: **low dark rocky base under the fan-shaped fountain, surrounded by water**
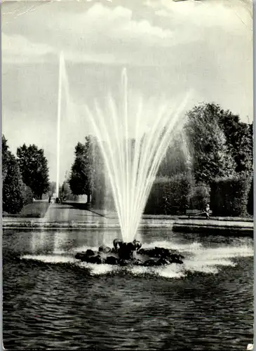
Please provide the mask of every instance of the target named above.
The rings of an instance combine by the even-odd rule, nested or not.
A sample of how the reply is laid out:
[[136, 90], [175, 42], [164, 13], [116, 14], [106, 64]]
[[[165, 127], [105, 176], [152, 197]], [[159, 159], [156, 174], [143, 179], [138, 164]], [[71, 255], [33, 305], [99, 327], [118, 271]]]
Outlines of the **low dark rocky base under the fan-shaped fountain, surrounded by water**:
[[[141, 249], [140, 241], [123, 243], [114, 240], [114, 247], [100, 246], [98, 251], [87, 250], [76, 253], [75, 258], [86, 263], [108, 264], [108, 265], [139, 265], [153, 267], [170, 265], [171, 263], [182, 264], [182, 258], [176, 251], [155, 247], [154, 249]], [[116, 244], [116, 242], [117, 244]], [[119, 247], [118, 247], [119, 246]]]

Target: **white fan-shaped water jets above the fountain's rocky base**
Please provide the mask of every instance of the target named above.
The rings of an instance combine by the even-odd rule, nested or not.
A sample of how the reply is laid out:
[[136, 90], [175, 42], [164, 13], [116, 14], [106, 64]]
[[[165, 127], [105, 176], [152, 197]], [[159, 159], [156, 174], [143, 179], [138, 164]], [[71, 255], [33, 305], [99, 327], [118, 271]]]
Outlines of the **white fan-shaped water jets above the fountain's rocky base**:
[[177, 107], [171, 118], [167, 104], [155, 105], [154, 122], [147, 133], [140, 133], [142, 115], [146, 113], [140, 99], [134, 120], [135, 138], [131, 140], [128, 118], [133, 117], [128, 111], [130, 105], [126, 69], [122, 71], [121, 81], [123, 91], [121, 113], [118, 112], [111, 96], [107, 100], [105, 113], [97, 102], [95, 102], [95, 111], [86, 106], [86, 112], [90, 117], [109, 173], [123, 240], [132, 241], [159, 165], [170, 145], [170, 132], [181, 126], [177, 122], [189, 96], [187, 95], [187, 98]]

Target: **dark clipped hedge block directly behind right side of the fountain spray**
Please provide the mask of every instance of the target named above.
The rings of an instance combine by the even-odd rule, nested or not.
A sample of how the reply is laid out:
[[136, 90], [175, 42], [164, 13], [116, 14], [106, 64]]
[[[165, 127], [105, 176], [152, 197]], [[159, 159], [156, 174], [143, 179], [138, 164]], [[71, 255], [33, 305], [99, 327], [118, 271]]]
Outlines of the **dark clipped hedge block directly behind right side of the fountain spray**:
[[186, 174], [178, 174], [171, 178], [156, 178], [144, 213], [165, 215], [184, 213], [188, 208], [191, 183], [191, 177]]

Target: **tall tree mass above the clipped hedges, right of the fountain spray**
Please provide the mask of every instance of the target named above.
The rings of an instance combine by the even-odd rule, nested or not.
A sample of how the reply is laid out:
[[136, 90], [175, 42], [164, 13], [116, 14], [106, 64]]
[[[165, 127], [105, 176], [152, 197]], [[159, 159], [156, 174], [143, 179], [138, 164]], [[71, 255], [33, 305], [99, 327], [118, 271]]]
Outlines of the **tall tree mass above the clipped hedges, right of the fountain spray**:
[[217, 177], [252, 174], [253, 125], [220, 105], [201, 103], [187, 112], [182, 133], [175, 135], [158, 176], [191, 171], [196, 183]]

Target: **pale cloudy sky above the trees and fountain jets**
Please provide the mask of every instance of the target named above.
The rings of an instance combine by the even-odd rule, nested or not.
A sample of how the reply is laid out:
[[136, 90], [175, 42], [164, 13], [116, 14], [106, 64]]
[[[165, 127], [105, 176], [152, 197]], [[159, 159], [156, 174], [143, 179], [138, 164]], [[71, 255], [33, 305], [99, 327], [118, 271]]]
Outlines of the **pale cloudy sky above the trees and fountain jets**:
[[[93, 131], [85, 105], [95, 99], [103, 104], [109, 94], [118, 105], [123, 67], [129, 96], [142, 96], [146, 105], [155, 99], [154, 111], [161, 99], [175, 105], [192, 90], [187, 110], [216, 102], [242, 121], [253, 119], [250, 0], [6, 0], [2, 130], [14, 153], [23, 143], [45, 150], [52, 181], [60, 52], [61, 181], [74, 161], [74, 146]], [[130, 105], [132, 126], [136, 99]], [[149, 114], [142, 122], [150, 126]]]

